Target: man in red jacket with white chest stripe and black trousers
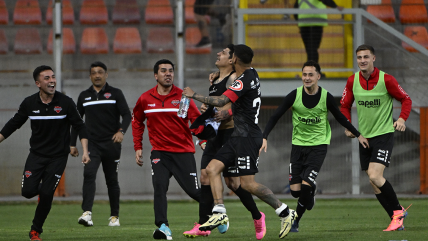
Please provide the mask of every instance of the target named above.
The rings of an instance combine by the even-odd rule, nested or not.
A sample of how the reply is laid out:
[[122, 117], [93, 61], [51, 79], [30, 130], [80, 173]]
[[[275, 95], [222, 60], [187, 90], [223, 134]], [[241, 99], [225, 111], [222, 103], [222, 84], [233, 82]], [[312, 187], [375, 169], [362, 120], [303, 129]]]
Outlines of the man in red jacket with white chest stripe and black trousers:
[[143, 133], [147, 120], [149, 140], [152, 145], [151, 165], [154, 189], [155, 224], [159, 228], [153, 233], [155, 239], [171, 240], [171, 230], [167, 219], [167, 199], [169, 179], [174, 176], [178, 184], [193, 199], [199, 202], [200, 189], [196, 169], [195, 146], [189, 129], [200, 115], [193, 100], [186, 118], [177, 116], [183, 90], [174, 83], [174, 64], [166, 59], [154, 66], [157, 85], [143, 93], [134, 107], [132, 135], [135, 159], [143, 165]]

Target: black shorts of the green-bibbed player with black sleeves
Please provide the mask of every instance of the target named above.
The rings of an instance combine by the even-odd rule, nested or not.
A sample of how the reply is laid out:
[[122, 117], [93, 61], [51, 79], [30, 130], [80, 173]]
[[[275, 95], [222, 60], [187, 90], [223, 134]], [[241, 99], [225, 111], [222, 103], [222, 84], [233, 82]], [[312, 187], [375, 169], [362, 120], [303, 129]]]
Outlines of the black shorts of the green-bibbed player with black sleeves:
[[327, 155], [327, 145], [292, 145], [290, 157], [290, 185], [306, 181], [312, 187], [317, 185], [316, 178]]

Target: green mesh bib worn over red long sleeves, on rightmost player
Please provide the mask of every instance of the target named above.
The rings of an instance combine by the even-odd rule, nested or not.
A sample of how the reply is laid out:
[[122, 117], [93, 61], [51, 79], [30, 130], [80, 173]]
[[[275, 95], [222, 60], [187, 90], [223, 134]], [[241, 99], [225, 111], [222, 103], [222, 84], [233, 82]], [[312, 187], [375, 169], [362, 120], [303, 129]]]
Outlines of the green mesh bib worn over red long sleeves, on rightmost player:
[[385, 72], [379, 71], [379, 81], [372, 90], [361, 87], [359, 76], [359, 72], [355, 73], [353, 92], [361, 135], [372, 138], [394, 132], [392, 97], [385, 86]]

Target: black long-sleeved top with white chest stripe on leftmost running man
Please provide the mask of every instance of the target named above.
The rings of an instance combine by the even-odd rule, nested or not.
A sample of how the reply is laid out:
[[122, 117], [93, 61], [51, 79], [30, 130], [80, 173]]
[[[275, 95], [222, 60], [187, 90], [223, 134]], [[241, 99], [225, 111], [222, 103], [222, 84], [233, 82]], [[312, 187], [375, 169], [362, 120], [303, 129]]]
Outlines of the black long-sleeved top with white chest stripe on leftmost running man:
[[45, 104], [37, 92], [19, 106], [18, 112], [1, 130], [7, 138], [27, 121], [31, 120], [30, 151], [42, 157], [59, 157], [70, 153], [70, 125], [80, 139], [88, 138], [86, 126], [77, 112], [73, 100], [55, 91], [50, 103]]

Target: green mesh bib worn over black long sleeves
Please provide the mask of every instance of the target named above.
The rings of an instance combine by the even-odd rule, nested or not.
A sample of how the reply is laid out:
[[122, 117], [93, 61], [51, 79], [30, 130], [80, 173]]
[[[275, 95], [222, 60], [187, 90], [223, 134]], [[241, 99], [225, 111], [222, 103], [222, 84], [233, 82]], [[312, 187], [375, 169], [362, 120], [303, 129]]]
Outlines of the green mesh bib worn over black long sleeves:
[[308, 109], [302, 102], [303, 86], [297, 88], [293, 111], [293, 137], [291, 143], [298, 146], [317, 146], [330, 144], [331, 129], [327, 119], [327, 91], [320, 88], [321, 98], [318, 104]]

